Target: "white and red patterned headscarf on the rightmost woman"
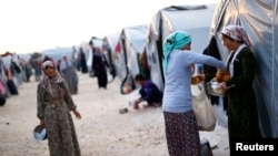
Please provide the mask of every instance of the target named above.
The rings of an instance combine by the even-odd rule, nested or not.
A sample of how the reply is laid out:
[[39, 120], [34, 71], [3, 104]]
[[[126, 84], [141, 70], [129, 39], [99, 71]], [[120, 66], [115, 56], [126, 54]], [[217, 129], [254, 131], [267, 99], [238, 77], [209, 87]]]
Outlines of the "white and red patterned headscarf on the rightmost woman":
[[228, 35], [229, 38], [236, 41], [242, 41], [248, 46], [250, 45], [247, 32], [241, 25], [227, 25], [222, 29], [221, 33]]

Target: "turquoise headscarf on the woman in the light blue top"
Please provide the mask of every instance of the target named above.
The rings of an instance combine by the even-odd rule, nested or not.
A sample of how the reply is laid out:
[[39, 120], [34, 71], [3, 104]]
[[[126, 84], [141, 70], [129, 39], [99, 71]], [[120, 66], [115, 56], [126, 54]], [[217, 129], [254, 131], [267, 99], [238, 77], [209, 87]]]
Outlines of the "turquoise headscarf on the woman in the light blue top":
[[188, 34], [186, 31], [176, 31], [169, 34], [163, 41], [163, 60], [162, 66], [163, 72], [166, 73], [166, 69], [168, 65], [168, 58], [172, 50], [175, 49], [182, 49], [188, 43], [191, 42], [191, 35]]

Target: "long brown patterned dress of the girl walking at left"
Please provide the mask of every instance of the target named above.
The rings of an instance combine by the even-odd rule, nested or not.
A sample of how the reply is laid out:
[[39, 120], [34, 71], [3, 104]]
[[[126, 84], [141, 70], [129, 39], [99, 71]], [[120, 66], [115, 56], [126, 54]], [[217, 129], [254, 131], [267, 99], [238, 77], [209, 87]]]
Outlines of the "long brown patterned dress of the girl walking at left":
[[52, 96], [40, 82], [37, 90], [38, 118], [44, 119], [50, 156], [80, 156], [80, 147], [70, 111], [77, 105], [64, 80], [50, 82]]

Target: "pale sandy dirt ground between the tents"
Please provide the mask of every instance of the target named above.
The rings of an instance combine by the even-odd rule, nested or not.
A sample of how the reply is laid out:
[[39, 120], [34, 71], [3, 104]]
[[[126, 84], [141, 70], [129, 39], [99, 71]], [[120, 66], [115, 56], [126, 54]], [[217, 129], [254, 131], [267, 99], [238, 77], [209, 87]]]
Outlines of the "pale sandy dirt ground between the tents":
[[[76, 119], [76, 129], [82, 156], [168, 156], [161, 108], [135, 111], [129, 101], [137, 92], [120, 94], [120, 80], [98, 89], [97, 79], [79, 75], [79, 93], [73, 95], [82, 115]], [[37, 84], [20, 85], [19, 95], [7, 98], [0, 107], [0, 156], [48, 156], [48, 142], [36, 141], [32, 131], [39, 124]], [[128, 113], [120, 114], [120, 108]], [[72, 114], [72, 117], [73, 114]], [[214, 147], [214, 156], [228, 156], [227, 128], [217, 125], [214, 132], [200, 132]]]

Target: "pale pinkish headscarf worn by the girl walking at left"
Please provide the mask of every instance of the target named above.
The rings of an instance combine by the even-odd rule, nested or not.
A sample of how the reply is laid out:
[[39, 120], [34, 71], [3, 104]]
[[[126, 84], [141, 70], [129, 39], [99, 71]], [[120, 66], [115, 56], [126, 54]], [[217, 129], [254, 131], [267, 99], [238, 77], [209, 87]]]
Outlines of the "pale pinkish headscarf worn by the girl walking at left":
[[[53, 77], [49, 77], [44, 71], [47, 69], [47, 66], [51, 66], [51, 67], [54, 67], [54, 76]], [[50, 93], [50, 95], [52, 96], [53, 95], [53, 92], [52, 92], [52, 87], [50, 85], [50, 83], [61, 83], [62, 82], [62, 77], [61, 75], [59, 74], [59, 72], [57, 71], [56, 69], [56, 65], [52, 61], [48, 60], [48, 61], [44, 61], [41, 65], [42, 67], [42, 84], [43, 84], [43, 87]]]

